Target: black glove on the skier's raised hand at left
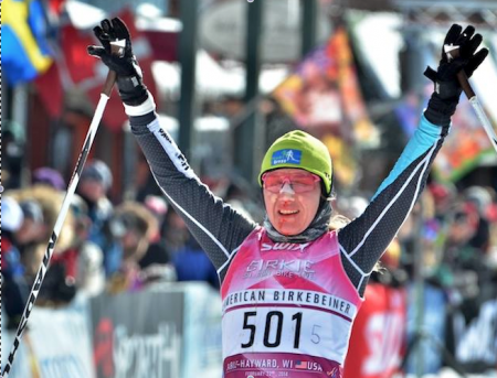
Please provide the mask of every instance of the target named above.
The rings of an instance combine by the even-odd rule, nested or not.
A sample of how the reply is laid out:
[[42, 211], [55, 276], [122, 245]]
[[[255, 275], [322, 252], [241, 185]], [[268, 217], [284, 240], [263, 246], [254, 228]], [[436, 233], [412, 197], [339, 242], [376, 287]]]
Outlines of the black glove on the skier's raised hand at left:
[[[119, 18], [103, 20], [101, 26], [93, 32], [102, 46], [88, 46], [88, 54], [99, 57], [102, 62], [117, 74], [117, 87], [123, 102], [138, 106], [148, 98], [147, 87], [144, 85], [141, 69], [131, 50], [131, 36], [128, 28]], [[120, 41], [124, 47], [115, 43]]]

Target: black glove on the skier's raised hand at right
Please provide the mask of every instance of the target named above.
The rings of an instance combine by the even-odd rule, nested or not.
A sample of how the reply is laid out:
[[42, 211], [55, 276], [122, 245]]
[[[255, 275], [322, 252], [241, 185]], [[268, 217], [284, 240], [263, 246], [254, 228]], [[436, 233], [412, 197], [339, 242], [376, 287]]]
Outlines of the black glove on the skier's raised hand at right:
[[[468, 25], [463, 32], [462, 30], [463, 28], [458, 24], [451, 26], [442, 46], [438, 69], [435, 72], [427, 67], [424, 72], [424, 75], [435, 84], [435, 90], [424, 112], [426, 119], [434, 125], [451, 123], [451, 117], [455, 112], [463, 90], [457, 80], [457, 74], [464, 69], [467, 77], [472, 76], [488, 55], [487, 48], [475, 53], [483, 40], [480, 34], [475, 34], [475, 28]], [[445, 52], [446, 45], [459, 46], [458, 56], [448, 58]]]

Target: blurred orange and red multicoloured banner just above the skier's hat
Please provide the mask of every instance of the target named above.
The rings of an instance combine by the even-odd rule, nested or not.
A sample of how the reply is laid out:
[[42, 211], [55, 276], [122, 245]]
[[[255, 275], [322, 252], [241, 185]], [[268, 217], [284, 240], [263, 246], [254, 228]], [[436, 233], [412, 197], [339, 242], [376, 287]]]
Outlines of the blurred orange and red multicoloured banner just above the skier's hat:
[[273, 96], [299, 127], [328, 147], [336, 177], [350, 186], [357, 170], [355, 149], [374, 147], [379, 138], [361, 98], [346, 30], [337, 29]]

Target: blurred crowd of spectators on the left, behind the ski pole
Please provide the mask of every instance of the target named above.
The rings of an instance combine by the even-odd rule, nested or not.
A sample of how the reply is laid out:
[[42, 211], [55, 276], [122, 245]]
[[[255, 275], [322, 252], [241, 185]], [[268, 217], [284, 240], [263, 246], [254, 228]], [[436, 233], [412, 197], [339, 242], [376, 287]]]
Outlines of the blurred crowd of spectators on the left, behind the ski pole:
[[[108, 197], [112, 184], [106, 163], [86, 163], [38, 305], [64, 305], [76, 293], [133, 292], [154, 282], [205, 281], [219, 289], [214, 267], [162, 196], [140, 193], [142, 198], [114, 204]], [[66, 187], [60, 172], [41, 168], [32, 172], [29, 186], [2, 194], [2, 302], [9, 328], [18, 326]], [[233, 185], [218, 190], [241, 206]]]

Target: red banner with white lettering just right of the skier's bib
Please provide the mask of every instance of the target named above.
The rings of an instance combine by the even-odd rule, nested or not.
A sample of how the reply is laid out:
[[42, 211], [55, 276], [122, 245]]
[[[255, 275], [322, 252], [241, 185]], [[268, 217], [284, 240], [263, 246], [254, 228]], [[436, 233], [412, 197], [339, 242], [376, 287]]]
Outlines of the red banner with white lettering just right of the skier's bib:
[[399, 372], [405, 336], [405, 291], [371, 282], [353, 323], [343, 378], [390, 378]]

